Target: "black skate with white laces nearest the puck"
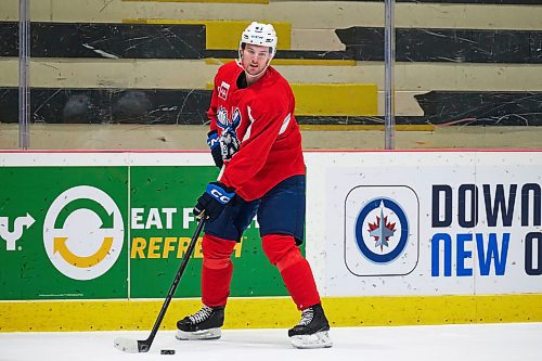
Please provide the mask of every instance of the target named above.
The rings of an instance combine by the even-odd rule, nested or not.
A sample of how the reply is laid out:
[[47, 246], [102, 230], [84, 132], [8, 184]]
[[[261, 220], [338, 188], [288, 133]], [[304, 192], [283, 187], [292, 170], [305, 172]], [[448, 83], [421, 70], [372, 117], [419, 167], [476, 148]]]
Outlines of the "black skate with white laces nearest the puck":
[[194, 314], [177, 321], [177, 339], [218, 339], [224, 324], [224, 307], [203, 306]]

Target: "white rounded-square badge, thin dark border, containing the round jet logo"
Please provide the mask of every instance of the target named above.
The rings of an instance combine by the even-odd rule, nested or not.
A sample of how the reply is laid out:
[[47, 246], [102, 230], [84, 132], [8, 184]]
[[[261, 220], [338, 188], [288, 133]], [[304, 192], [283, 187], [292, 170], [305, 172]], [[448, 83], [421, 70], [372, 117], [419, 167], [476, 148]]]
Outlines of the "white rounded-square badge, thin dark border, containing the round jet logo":
[[348, 271], [357, 276], [412, 272], [420, 259], [418, 215], [417, 195], [409, 186], [358, 185], [350, 190], [345, 199]]

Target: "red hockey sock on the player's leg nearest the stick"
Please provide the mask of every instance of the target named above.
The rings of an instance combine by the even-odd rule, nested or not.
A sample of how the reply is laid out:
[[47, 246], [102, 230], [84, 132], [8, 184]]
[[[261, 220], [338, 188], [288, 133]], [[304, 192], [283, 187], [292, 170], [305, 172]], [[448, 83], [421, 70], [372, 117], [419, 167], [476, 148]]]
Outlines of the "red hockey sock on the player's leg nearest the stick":
[[205, 234], [202, 242], [202, 301], [208, 307], [225, 306], [230, 296], [233, 263], [230, 259], [235, 241]]

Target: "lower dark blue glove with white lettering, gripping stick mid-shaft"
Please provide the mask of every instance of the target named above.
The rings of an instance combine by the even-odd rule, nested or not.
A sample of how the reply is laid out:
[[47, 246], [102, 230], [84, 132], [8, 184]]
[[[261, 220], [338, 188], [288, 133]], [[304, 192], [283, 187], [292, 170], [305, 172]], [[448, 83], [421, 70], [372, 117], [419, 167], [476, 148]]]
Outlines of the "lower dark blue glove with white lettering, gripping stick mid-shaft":
[[228, 202], [235, 195], [233, 188], [225, 186], [220, 182], [211, 182], [207, 184], [207, 189], [194, 206], [192, 212], [194, 216], [199, 216], [205, 210], [205, 218], [214, 220], [224, 210]]

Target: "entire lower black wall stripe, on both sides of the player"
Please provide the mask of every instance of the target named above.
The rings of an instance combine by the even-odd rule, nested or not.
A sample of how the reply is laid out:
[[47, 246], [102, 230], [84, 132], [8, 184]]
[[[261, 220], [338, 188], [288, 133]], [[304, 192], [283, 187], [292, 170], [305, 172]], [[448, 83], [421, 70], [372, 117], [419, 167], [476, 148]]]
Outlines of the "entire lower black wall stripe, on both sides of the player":
[[[0, 123], [17, 123], [17, 88], [0, 88]], [[48, 124], [207, 123], [209, 90], [31, 89], [31, 121]], [[430, 91], [415, 95], [423, 116], [398, 125], [542, 126], [542, 91]], [[298, 116], [302, 125], [378, 125], [382, 116]]]

